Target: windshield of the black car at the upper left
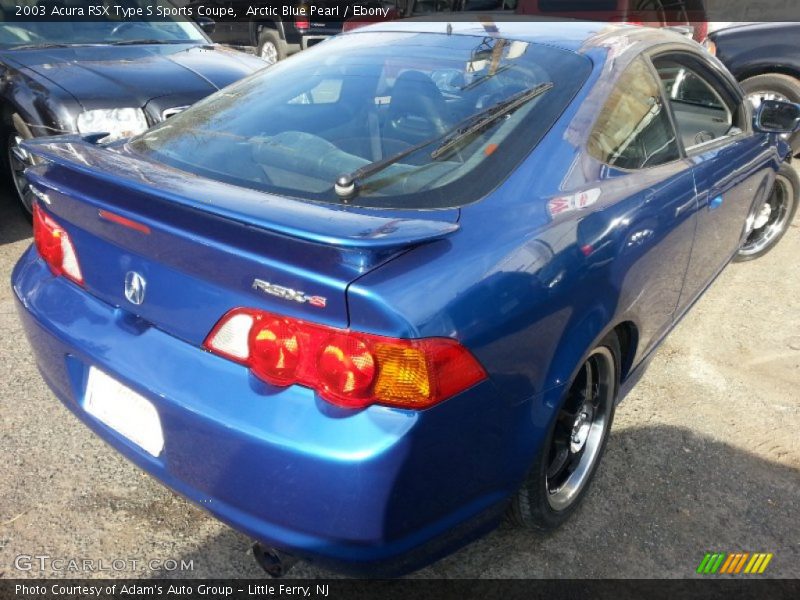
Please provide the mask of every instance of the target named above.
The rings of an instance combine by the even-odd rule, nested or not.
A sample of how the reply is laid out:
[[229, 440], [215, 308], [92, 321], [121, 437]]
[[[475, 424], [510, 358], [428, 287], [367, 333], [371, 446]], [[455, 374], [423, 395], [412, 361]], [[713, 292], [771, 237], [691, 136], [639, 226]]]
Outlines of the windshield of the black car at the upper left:
[[[151, 19], [159, 12], [159, 7], [175, 10], [168, 0], [98, 0], [92, 3], [97, 7], [108, 7], [104, 16], [81, 19], [79, 13], [64, 13], [60, 20], [46, 19], [50, 12], [42, 15], [39, 10], [50, 11], [54, 6], [69, 10], [70, 7], [83, 7], [89, 3], [66, 0], [59, 3], [38, 4], [38, 0], [0, 0], [0, 48], [42, 48], [47, 46], [73, 46], [85, 44], [124, 44], [133, 42], [178, 43], [206, 42], [200, 29], [188, 22], [165, 16], [158, 20], [137, 21], [125, 18], [117, 10], [121, 8], [141, 8]], [[102, 12], [102, 9], [100, 9]], [[28, 12], [26, 12], [28, 11]], [[34, 11], [34, 12], [30, 12]], [[71, 18], [74, 17], [74, 20]]]

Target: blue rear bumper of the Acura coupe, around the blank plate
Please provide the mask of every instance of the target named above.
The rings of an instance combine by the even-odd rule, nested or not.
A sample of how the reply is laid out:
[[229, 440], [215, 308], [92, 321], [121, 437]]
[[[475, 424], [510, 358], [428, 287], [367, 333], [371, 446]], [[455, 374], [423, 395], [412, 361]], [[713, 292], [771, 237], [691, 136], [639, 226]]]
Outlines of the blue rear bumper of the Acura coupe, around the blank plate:
[[[346, 411], [54, 278], [33, 248], [12, 283], [39, 369], [79, 419], [220, 520], [306, 559], [372, 575], [423, 566], [491, 529], [528, 464], [508, 429], [525, 406], [490, 382], [423, 412]], [[158, 457], [83, 409], [92, 365], [156, 407]]]

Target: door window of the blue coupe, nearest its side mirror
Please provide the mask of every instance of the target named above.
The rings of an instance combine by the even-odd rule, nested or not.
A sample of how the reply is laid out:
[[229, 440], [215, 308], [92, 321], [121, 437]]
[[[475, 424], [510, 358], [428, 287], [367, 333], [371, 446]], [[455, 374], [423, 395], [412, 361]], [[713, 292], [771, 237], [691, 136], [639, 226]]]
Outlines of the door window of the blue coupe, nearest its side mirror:
[[687, 151], [740, 133], [733, 111], [711, 81], [679, 59], [657, 58], [653, 64]]

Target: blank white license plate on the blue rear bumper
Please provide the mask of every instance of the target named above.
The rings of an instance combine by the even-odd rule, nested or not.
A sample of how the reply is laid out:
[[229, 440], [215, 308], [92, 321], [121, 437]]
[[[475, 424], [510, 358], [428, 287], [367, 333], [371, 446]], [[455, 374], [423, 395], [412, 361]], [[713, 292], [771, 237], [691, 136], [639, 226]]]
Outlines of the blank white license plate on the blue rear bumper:
[[83, 408], [149, 454], [158, 456], [164, 449], [156, 407], [95, 367], [89, 368]]

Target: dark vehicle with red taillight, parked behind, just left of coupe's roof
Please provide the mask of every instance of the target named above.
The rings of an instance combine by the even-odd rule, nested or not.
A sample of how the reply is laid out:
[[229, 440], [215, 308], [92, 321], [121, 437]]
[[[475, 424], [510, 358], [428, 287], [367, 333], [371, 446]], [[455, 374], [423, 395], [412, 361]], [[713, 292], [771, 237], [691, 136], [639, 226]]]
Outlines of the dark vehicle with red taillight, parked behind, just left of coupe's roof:
[[[187, 2], [188, 6], [193, 7], [201, 4], [207, 5], [208, 0]], [[256, 54], [271, 65], [342, 31], [344, 18], [337, 21], [335, 17], [311, 16], [312, 4], [317, 8], [339, 7], [339, 12], [343, 15], [346, 2], [314, 0], [296, 4], [285, 3], [286, 8], [291, 8], [295, 13], [288, 16], [281, 14], [284, 3], [274, 0], [219, 0], [217, 4], [223, 8], [233, 8], [239, 18], [235, 21], [218, 22], [211, 39], [230, 46], [255, 47]], [[261, 14], [248, 19], [246, 17], [248, 8]], [[278, 14], [271, 16], [267, 9], [277, 10]]]

